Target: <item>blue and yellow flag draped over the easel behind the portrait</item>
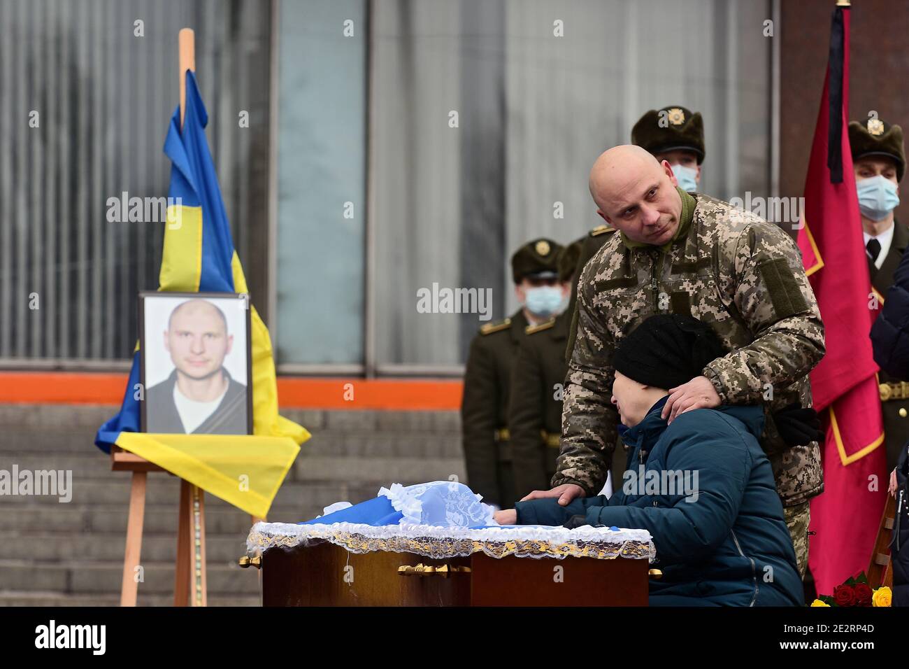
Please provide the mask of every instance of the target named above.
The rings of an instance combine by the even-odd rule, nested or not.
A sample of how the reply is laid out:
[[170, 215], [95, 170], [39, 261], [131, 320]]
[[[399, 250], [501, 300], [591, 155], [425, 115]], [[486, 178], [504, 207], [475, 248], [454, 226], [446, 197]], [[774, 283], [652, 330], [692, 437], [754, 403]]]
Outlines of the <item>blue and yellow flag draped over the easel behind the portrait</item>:
[[[243, 268], [234, 249], [205, 126], [208, 114], [195, 74], [186, 72], [183, 131], [180, 108], [171, 117], [165, 154], [171, 159], [172, 202], [167, 208], [159, 290], [246, 293]], [[177, 200], [176, 198], [180, 198]], [[253, 347], [252, 435], [147, 434], [140, 429], [139, 347], [133, 355], [123, 406], [105, 422], [95, 445], [111, 444], [134, 452], [226, 502], [265, 518], [293, 464], [299, 444], [310, 434], [278, 415], [275, 361], [271, 338], [250, 305]]]

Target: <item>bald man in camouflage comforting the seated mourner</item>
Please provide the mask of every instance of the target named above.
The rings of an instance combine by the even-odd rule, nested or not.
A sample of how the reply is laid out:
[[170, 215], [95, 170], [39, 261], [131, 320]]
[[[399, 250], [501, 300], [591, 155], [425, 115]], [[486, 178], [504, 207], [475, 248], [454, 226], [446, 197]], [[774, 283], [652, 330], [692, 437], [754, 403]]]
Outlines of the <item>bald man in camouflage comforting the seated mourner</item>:
[[804, 575], [808, 500], [824, 490], [820, 449], [816, 441], [789, 446], [769, 415], [811, 406], [807, 374], [824, 356], [824, 325], [793, 240], [751, 212], [686, 193], [669, 163], [642, 147], [597, 158], [590, 192], [613, 231], [578, 282], [553, 488], [524, 499], [567, 504], [603, 487], [618, 424], [610, 402], [616, 342], [653, 314], [691, 314], [732, 352], [669, 389], [664, 418], [721, 403], [764, 405], [762, 446]]

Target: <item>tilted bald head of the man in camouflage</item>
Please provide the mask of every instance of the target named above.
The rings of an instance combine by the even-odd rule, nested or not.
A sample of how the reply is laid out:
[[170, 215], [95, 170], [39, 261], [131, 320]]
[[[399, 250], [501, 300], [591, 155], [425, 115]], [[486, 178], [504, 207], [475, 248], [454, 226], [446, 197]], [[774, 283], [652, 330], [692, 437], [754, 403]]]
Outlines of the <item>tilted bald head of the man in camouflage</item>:
[[624, 144], [604, 151], [590, 170], [597, 213], [627, 238], [661, 246], [673, 238], [682, 198], [672, 167], [641, 147]]

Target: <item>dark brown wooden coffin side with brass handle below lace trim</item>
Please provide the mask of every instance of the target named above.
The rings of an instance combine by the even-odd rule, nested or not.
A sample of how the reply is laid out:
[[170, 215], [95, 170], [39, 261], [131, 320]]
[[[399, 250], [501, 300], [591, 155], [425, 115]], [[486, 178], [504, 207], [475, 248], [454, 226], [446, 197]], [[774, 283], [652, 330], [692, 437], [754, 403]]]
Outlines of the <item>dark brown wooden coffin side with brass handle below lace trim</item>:
[[434, 560], [413, 552], [348, 552], [315, 540], [268, 548], [259, 564], [264, 606], [647, 604], [646, 558], [495, 558], [474, 552]]

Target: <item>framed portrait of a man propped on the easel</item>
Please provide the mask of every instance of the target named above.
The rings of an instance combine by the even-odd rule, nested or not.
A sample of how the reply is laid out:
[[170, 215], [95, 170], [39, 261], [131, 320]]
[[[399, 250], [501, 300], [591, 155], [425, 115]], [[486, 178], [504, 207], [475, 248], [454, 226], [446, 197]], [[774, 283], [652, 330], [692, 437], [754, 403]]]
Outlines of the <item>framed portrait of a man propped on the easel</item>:
[[139, 293], [142, 431], [252, 434], [248, 296]]

